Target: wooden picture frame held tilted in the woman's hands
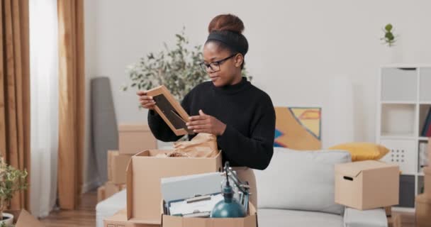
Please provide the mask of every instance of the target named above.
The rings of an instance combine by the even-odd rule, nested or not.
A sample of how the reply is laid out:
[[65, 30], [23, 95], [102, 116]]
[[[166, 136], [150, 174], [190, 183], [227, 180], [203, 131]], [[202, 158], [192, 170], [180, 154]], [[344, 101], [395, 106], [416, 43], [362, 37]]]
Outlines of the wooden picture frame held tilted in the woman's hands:
[[186, 123], [189, 122], [189, 114], [164, 85], [150, 89], [147, 91], [147, 96], [152, 96], [156, 102], [155, 111], [163, 118], [175, 135], [194, 134], [186, 126]]

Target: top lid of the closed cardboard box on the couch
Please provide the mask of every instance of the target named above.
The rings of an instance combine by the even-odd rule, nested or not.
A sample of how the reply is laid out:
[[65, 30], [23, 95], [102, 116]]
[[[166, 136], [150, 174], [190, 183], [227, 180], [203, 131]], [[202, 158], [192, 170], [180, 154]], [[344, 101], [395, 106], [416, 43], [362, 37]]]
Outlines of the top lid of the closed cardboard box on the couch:
[[388, 164], [385, 162], [379, 162], [375, 160], [366, 160], [366, 161], [354, 162], [354, 165], [352, 165], [352, 162], [335, 165], [335, 172], [339, 173], [340, 175], [344, 175], [346, 177], [357, 177], [362, 171], [375, 170], [379, 168], [386, 168], [386, 167], [392, 167], [392, 166], [396, 166], [396, 165]]

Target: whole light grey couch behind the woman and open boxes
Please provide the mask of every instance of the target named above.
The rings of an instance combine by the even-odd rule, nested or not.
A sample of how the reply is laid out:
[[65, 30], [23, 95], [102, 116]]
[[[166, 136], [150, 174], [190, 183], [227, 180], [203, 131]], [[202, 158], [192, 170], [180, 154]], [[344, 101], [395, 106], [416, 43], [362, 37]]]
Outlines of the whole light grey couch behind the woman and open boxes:
[[[357, 211], [334, 203], [334, 165], [350, 162], [345, 151], [294, 151], [274, 148], [257, 180], [259, 227], [387, 227], [384, 209]], [[96, 226], [125, 208], [125, 190], [96, 206]]]

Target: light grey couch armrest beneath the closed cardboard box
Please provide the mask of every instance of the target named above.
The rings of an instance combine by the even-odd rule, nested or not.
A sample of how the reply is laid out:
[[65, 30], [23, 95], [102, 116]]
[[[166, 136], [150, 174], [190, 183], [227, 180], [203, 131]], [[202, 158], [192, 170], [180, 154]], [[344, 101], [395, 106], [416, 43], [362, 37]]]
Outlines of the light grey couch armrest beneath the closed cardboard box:
[[346, 207], [343, 222], [345, 227], [388, 227], [383, 208], [359, 211]]

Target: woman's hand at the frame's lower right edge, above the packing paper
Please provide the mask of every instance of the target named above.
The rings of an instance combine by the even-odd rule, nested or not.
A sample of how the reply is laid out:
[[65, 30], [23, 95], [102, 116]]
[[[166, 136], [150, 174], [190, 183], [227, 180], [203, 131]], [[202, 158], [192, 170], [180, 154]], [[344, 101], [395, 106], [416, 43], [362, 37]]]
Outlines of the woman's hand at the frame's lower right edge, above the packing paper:
[[186, 123], [187, 128], [194, 131], [194, 133], [210, 133], [213, 135], [223, 135], [226, 125], [218, 121], [217, 118], [204, 114], [199, 110], [198, 116], [191, 116], [189, 122]]

